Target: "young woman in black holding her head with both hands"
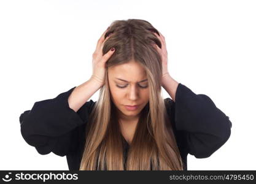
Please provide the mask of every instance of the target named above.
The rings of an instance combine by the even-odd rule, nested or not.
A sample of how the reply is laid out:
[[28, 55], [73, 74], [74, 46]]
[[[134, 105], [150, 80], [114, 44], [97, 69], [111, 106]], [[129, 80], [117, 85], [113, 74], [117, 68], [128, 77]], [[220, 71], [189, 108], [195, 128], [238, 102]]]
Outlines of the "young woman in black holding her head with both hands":
[[188, 153], [209, 157], [232, 125], [208, 96], [171, 77], [165, 37], [137, 19], [104, 31], [87, 82], [35, 102], [20, 123], [29, 145], [66, 156], [69, 170], [187, 170]]

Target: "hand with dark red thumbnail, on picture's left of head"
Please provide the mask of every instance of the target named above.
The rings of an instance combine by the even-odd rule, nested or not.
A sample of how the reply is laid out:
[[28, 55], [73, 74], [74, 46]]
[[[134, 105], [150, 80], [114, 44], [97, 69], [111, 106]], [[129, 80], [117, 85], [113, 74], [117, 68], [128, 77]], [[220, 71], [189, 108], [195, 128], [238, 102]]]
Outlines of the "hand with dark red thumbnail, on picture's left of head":
[[93, 74], [91, 75], [91, 79], [96, 80], [101, 85], [104, 85], [105, 82], [106, 62], [115, 52], [115, 50], [110, 49], [109, 52], [107, 52], [103, 56], [103, 45], [106, 42], [106, 40], [111, 36], [111, 34], [109, 34], [109, 36], [107, 36], [104, 40], [104, 35], [106, 34], [107, 30], [108, 29], [106, 29], [106, 31], [104, 31], [104, 33], [99, 38], [96, 50], [93, 53]]

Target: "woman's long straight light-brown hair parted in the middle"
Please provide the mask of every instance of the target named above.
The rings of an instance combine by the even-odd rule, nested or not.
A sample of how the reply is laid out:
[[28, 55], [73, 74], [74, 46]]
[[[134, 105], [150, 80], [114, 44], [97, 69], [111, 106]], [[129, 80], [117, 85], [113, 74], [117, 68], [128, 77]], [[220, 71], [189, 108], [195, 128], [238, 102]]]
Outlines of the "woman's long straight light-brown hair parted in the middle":
[[[161, 42], [152, 32], [157, 29], [145, 20], [114, 21], [105, 38], [103, 55], [115, 47], [106, 63], [105, 84], [90, 114], [85, 133], [80, 170], [183, 170], [165, 100], [161, 94], [161, 56], [153, 47]], [[123, 156], [123, 137], [117, 120], [117, 109], [109, 91], [107, 69], [136, 61], [144, 67], [149, 82], [149, 102], [141, 110], [133, 140]]]

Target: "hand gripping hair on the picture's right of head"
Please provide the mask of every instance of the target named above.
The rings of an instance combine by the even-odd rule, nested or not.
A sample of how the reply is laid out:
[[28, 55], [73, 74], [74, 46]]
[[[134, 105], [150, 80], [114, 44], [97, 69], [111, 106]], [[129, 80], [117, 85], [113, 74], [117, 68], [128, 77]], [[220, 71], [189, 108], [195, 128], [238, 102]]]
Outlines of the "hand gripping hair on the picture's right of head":
[[158, 53], [160, 53], [161, 58], [162, 58], [162, 66], [163, 66], [162, 79], [163, 79], [163, 77], [165, 77], [166, 75], [169, 75], [168, 56], [167, 56], [167, 50], [166, 50], [165, 37], [159, 31], [158, 31], [158, 33], [160, 34], [160, 36], [158, 36], [157, 33], [153, 33], [153, 34], [155, 34], [155, 36], [157, 36], [158, 39], [161, 41], [161, 48], [159, 48], [157, 44], [154, 44], [154, 46], [155, 46], [155, 48], [157, 48], [157, 51], [158, 51]]

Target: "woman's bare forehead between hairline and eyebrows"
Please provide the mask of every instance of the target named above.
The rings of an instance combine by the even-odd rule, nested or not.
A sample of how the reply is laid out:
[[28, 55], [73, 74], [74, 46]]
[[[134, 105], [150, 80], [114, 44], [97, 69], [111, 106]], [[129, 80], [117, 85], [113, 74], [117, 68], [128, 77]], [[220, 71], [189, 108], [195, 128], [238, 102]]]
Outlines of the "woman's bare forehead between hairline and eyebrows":
[[145, 69], [135, 61], [110, 67], [108, 69], [109, 79], [115, 78], [127, 80], [128, 82], [139, 82], [147, 78]]

